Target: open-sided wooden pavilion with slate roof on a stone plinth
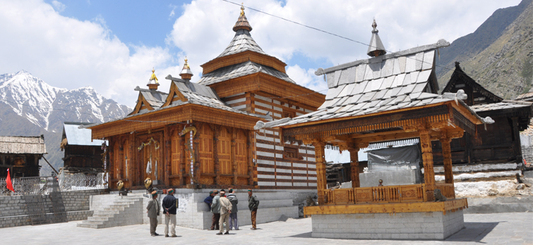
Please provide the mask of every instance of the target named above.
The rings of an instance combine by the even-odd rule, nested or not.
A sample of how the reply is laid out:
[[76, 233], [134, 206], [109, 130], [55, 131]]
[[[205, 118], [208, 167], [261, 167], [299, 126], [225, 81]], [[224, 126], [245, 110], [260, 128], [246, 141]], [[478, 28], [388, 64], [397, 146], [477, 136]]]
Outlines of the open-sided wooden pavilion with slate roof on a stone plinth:
[[[375, 22], [372, 33], [368, 51], [371, 58], [317, 70], [316, 75], [327, 77], [329, 87], [318, 111], [268, 125], [280, 130], [281, 141], [315, 148], [318, 206], [304, 208], [305, 215], [313, 217], [313, 237], [335, 237], [334, 233], [339, 232], [316, 224], [327, 220], [327, 215], [334, 215], [330, 219], [349, 223], [350, 220], [343, 220], [348, 216], [339, 214], [419, 213], [424, 216], [425, 212], [441, 212], [446, 215], [467, 208], [466, 199], [455, 199], [450, 142], [465, 134], [475, 137], [479, 134], [477, 125], [492, 122], [490, 118], [479, 117], [467, 106], [463, 101], [467, 99], [464, 92], [436, 94], [436, 50], [449, 46], [448, 42], [441, 39], [436, 44], [386, 54]], [[262, 124], [258, 122], [258, 125]], [[424, 162], [423, 184], [360, 187], [359, 149], [370, 143], [416, 137], [420, 139]], [[435, 182], [433, 140], [443, 146], [444, 184]], [[349, 151], [352, 188], [326, 188], [324, 149], [328, 145]], [[435, 202], [436, 189], [440, 189], [448, 201]], [[441, 218], [441, 221], [443, 219], [446, 220]], [[462, 228], [462, 211], [460, 218], [453, 220], [460, 220], [457, 226]], [[442, 229], [439, 236], [446, 237], [457, 227]], [[366, 230], [345, 231], [342, 236], [357, 238], [355, 234], [370, 232]], [[378, 230], [371, 232], [379, 233]], [[385, 237], [377, 238], [387, 238], [387, 234], [381, 235]]]

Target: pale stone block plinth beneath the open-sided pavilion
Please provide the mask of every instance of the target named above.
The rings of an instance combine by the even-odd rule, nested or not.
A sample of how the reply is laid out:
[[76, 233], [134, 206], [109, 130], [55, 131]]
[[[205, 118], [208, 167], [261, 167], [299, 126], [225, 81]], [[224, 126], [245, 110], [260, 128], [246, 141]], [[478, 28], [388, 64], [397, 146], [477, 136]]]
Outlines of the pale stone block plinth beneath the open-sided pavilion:
[[465, 227], [462, 211], [312, 215], [311, 237], [333, 239], [437, 239]]

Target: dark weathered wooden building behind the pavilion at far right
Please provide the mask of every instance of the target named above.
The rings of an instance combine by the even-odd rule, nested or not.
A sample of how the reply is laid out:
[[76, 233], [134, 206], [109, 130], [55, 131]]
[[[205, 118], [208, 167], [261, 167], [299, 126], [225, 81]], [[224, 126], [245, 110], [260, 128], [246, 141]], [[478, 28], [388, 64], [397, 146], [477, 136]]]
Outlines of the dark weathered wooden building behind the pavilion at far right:
[[[450, 81], [442, 93], [462, 89], [467, 94], [465, 103], [481, 117], [495, 120], [491, 125], [477, 125], [477, 137], [465, 134], [453, 139], [450, 150], [453, 163], [522, 163], [520, 131], [525, 130], [533, 116], [530, 101], [504, 100], [469, 77], [458, 62]], [[435, 163], [442, 164], [442, 146], [433, 142]]]

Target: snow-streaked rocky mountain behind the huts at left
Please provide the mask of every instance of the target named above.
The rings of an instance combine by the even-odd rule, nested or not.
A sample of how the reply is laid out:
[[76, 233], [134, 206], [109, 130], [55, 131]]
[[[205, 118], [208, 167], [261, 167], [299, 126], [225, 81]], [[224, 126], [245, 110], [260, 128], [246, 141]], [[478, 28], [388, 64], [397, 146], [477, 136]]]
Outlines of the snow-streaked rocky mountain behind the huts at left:
[[[44, 157], [56, 169], [63, 166], [64, 153], [59, 149], [63, 122], [103, 122], [124, 117], [131, 110], [92, 87], [52, 87], [24, 70], [0, 75], [0, 135], [44, 134], [48, 151]], [[41, 175], [49, 175], [52, 168], [44, 161], [40, 165]]]

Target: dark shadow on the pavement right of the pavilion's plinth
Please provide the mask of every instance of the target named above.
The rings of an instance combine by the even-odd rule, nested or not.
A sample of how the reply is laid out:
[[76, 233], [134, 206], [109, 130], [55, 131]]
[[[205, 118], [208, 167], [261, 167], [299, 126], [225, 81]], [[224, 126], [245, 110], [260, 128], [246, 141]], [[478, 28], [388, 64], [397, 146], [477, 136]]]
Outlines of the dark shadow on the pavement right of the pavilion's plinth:
[[[503, 221], [505, 222], [505, 221]], [[465, 222], [465, 229], [453, 234], [445, 241], [476, 241], [479, 243], [485, 243], [481, 241], [489, 234], [499, 222]]]

